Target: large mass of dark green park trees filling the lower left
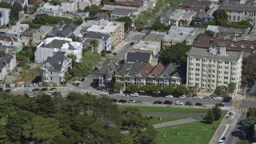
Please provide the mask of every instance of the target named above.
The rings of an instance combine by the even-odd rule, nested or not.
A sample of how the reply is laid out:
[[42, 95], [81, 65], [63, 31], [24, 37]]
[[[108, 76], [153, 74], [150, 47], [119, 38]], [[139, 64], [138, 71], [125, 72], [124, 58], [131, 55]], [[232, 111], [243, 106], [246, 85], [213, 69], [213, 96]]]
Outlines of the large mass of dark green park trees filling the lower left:
[[[3, 143], [152, 143], [156, 131], [137, 109], [120, 110], [111, 98], [60, 93], [0, 97]], [[122, 134], [128, 130], [129, 134]]]

